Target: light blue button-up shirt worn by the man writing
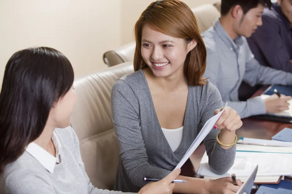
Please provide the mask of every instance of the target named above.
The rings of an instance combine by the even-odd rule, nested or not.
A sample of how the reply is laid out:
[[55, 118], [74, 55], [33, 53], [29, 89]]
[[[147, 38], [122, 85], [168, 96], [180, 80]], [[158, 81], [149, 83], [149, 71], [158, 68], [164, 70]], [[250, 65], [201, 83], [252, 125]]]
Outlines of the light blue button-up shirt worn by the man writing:
[[238, 88], [242, 81], [256, 84], [292, 84], [292, 74], [259, 65], [246, 38], [232, 40], [219, 19], [213, 27], [202, 33], [207, 49], [207, 66], [204, 78], [219, 89], [222, 100], [238, 112], [241, 118], [266, 113], [260, 97], [247, 101], [238, 100]]

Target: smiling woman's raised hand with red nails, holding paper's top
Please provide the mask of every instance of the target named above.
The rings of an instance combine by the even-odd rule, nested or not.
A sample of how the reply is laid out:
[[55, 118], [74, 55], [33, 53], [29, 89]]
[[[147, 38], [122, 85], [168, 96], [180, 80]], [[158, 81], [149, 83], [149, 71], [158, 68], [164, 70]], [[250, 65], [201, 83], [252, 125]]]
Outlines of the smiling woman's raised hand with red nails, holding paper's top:
[[[219, 113], [221, 109], [214, 111], [214, 114]], [[218, 121], [215, 123], [215, 129], [223, 129], [228, 131], [235, 131], [242, 126], [242, 121], [238, 113], [230, 107], [226, 107], [224, 112], [219, 117]]]

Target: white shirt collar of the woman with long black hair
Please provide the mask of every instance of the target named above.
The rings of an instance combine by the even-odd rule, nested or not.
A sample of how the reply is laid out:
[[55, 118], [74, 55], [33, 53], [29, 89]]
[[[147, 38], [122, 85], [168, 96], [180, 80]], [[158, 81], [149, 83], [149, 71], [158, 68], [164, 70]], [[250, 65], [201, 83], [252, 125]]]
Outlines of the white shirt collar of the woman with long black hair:
[[34, 142], [30, 143], [25, 149], [25, 151], [37, 159], [37, 161], [41, 163], [50, 173], [54, 172], [55, 163], [57, 162], [56, 158], [59, 157], [62, 147], [55, 131], [53, 132], [52, 140], [56, 149], [56, 157], [52, 156], [49, 152]]

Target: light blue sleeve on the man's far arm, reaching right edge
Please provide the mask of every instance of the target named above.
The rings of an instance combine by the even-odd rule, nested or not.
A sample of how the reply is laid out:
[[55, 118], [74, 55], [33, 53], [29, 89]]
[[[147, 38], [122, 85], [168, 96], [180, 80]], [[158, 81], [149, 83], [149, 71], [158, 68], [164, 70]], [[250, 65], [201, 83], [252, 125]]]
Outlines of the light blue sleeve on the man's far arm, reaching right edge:
[[244, 81], [251, 86], [255, 86], [256, 84], [292, 84], [292, 73], [259, 65], [247, 43], [246, 47], [248, 49], [248, 58], [245, 64]]

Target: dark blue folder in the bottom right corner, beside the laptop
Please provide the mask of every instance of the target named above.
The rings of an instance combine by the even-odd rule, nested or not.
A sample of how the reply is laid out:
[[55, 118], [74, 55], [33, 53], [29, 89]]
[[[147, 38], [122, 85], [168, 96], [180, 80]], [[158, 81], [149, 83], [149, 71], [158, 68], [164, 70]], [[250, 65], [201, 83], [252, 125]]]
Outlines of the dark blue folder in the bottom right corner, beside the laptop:
[[256, 194], [292, 194], [292, 181], [281, 180], [279, 184], [262, 184]]

